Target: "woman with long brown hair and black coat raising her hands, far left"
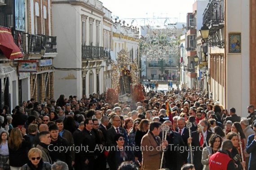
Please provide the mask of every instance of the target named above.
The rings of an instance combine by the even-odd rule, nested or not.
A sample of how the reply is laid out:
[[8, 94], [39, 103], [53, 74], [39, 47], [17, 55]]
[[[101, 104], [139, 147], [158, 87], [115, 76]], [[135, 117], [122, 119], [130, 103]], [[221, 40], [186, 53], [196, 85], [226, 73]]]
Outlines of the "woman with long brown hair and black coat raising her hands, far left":
[[9, 165], [11, 170], [21, 170], [21, 167], [28, 161], [27, 150], [30, 149], [30, 138], [26, 135], [26, 129], [18, 127], [12, 129], [9, 140]]

